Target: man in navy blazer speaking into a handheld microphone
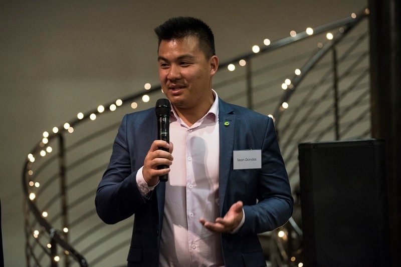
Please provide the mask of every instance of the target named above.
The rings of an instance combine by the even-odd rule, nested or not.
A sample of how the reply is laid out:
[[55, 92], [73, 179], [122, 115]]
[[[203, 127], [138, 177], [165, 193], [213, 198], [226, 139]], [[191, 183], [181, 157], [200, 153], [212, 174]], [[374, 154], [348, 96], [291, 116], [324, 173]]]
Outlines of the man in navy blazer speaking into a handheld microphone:
[[135, 214], [128, 266], [265, 266], [257, 233], [283, 225], [293, 204], [273, 121], [218, 98], [204, 22], [172, 18], [155, 32], [170, 143], [155, 140], [154, 109], [125, 115], [97, 212], [106, 223]]

